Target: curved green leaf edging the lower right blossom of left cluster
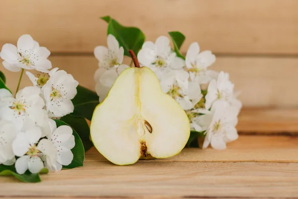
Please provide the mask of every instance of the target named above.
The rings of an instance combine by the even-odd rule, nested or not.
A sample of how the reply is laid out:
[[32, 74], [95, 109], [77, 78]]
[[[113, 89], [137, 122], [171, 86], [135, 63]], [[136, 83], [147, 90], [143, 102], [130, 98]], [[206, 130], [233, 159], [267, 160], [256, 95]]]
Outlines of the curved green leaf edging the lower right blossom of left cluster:
[[[64, 121], [61, 121], [58, 119], [55, 119], [55, 122], [57, 124], [57, 127], [62, 125], [68, 125]], [[63, 166], [62, 168], [64, 169], [73, 169], [75, 167], [82, 167], [84, 163], [84, 158], [85, 158], [84, 146], [78, 134], [75, 132], [74, 128], [73, 128], [73, 135], [74, 135], [74, 142], [75, 142], [74, 148], [72, 149], [72, 152], [74, 154], [74, 159], [70, 165]]]

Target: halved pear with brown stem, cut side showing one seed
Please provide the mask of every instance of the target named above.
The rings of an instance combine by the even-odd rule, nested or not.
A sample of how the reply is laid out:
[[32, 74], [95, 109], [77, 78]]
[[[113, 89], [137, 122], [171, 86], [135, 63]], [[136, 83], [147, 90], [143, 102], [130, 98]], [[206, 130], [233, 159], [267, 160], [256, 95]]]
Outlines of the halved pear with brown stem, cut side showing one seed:
[[[131, 51], [130, 51], [131, 53]], [[178, 154], [190, 135], [185, 111], [161, 91], [147, 67], [124, 70], [93, 112], [90, 134], [96, 149], [117, 165]]]

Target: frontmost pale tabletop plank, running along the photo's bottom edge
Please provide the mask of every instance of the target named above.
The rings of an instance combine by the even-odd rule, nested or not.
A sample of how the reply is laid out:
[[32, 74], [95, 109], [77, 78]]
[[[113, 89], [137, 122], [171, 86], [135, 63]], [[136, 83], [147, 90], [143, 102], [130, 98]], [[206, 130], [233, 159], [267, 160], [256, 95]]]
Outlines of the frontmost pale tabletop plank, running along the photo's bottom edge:
[[[30, 198], [215, 198], [298, 197], [297, 163], [97, 163], [18, 183], [1, 177], [2, 197]], [[21, 197], [19, 197], [21, 198]]]

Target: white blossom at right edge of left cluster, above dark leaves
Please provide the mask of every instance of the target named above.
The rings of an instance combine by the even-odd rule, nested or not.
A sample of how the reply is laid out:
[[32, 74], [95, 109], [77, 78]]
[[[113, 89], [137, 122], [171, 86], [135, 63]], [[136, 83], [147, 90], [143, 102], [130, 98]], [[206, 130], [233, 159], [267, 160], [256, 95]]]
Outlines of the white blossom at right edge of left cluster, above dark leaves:
[[64, 70], [53, 69], [49, 73], [50, 79], [42, 87], [42, 93], [46, 101], [47, 111], [53, 116], [62, 117], [74, 111], [71, 101], [76, 95], [78, 82]]

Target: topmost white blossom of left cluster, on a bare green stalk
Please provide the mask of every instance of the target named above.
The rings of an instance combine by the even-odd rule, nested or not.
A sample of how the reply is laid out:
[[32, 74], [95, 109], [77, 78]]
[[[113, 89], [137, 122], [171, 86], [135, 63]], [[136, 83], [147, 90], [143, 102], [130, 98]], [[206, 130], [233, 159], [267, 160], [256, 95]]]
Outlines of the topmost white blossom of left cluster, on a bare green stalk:
[[38, 42], [28, 34], [19, 37], [17, 47], [4, 44], [0, 52], [0, 57], [4, 60], [3, 66], [12, 72], [18, 72], [23, 68], [46, 73], [52, 68], [51, 62], [47, 59], [49, 55], [50, 51], [40, 47]]

